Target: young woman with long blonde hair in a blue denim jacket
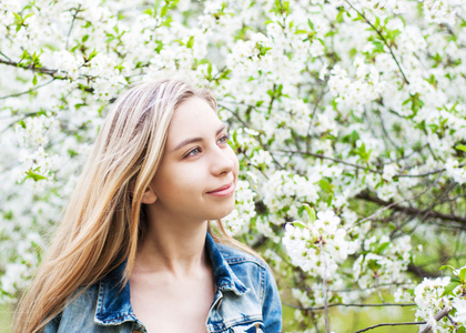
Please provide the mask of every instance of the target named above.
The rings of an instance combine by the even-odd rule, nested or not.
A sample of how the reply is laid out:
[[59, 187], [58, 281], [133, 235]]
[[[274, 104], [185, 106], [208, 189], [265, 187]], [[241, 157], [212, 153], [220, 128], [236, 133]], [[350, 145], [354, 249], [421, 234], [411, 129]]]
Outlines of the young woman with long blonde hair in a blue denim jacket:
[[212, 94], [185, 82], [118, 99], [16, 332], [280, 332], [267, 265], [219, 220], [239, 172], [226, 133]]

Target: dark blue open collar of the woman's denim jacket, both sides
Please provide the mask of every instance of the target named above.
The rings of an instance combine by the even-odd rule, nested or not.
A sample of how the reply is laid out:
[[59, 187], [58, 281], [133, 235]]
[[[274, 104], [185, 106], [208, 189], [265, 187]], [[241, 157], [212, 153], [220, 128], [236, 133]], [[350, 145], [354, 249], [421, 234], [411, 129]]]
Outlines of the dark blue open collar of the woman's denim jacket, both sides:
[[[217, 290], [232, 291], [236, 295], [250, 292], [250, 289], [234, 274], [209, 233], [205, 236], [205, 251], [212, 261], [214, 283]], [[131, 306], [130, 282], [121, 287], [125, 266], [126, 261], [99, 283], [94, 322], [100, 325], [115, 325], [128, 321], [140, 323]]]

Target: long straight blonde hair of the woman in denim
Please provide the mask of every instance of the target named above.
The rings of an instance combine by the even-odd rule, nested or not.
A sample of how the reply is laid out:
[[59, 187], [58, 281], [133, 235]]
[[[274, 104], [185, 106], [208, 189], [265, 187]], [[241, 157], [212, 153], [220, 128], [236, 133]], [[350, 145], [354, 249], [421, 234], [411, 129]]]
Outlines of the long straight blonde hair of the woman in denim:
[[[133, 87], [115, 101], [49, 253], [18, 305], [14, 332], [41, 332], [78, 287], [94, 284], [124, 260], [122, 283], [128, 282], [143, 230], [142, 195], [162, 159], [173, 112], [192, 97], [216, 110], [209, 90], [178, 80]], [[249, 250], [227, 236], [221, 221], [219, 230], [216, 242]]]

